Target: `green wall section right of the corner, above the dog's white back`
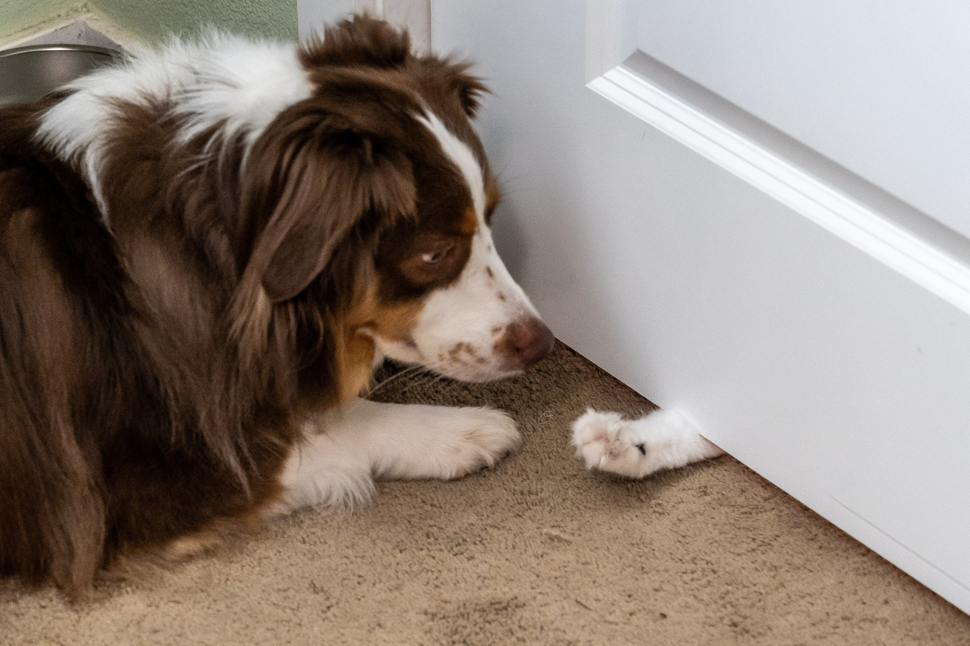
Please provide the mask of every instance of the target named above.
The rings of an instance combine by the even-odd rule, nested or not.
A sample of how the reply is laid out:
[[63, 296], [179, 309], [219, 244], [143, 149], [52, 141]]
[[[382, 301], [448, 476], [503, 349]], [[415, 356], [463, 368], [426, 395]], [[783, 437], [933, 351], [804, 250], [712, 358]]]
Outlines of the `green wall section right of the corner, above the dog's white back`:
[[89, 0], [88, 5], [147, 43], [209, 25], [281, 40], [297, 37], [297, 0]]

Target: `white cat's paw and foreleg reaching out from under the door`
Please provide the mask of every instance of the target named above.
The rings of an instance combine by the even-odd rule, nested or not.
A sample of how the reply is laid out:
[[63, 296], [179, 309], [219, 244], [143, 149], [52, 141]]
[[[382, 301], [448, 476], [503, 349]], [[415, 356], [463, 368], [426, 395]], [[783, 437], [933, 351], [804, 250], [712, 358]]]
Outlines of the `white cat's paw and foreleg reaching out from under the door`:
[[576, 457], [586, 468], [642, 478], [664, 468], [678, 468], [724, 452], [704, 439], [677, 410], [655, 410], [636, 420], [593, 408], [572, 423]]

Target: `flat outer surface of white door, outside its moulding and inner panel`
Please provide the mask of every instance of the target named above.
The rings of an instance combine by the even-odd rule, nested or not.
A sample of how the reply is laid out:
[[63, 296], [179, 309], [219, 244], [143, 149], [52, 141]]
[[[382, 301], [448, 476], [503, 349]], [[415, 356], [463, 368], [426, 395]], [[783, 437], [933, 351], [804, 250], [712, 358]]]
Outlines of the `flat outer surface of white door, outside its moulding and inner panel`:
[[557, 336], [970, 610], [968, 317], [589, 90], [581, 0], [433, 9]]

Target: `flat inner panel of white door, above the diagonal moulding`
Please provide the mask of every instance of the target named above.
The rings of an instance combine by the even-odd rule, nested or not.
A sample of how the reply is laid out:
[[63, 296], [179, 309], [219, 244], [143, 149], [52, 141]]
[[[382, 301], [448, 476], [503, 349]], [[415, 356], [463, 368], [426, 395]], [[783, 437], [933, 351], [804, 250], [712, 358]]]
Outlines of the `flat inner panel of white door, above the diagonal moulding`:
[[625, 4], [635, 48], [970, 235], [970, 4]]

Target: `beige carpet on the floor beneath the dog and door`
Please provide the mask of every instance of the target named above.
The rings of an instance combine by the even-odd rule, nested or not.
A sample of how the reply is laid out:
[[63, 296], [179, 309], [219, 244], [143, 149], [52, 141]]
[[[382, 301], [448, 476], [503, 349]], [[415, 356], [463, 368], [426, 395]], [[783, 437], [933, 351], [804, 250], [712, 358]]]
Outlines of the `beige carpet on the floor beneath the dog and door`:
[[80, 605], [0, 584], [0, 642], [970, 644], [970, 617], [730, 458], [641, 482], [580, 468], [577, 414], [650, 404], [563, 346], [517, 379], [381, 395], [501, 406], [525, 445]]

